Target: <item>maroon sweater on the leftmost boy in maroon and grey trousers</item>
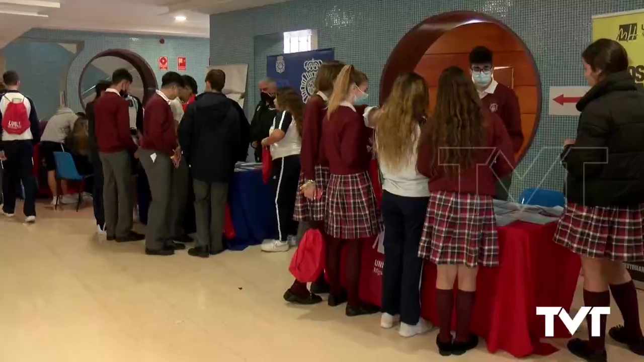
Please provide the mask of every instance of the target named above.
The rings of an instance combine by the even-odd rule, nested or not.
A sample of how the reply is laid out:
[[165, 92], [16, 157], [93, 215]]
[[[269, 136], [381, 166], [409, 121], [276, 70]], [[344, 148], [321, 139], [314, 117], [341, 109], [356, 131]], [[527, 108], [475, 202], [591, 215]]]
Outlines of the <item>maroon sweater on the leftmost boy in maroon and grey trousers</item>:
[[95, 100], [94, 122], [99, 152], [137, 151], [129, 131], [128, 101], [120, 94], [106, 91]]

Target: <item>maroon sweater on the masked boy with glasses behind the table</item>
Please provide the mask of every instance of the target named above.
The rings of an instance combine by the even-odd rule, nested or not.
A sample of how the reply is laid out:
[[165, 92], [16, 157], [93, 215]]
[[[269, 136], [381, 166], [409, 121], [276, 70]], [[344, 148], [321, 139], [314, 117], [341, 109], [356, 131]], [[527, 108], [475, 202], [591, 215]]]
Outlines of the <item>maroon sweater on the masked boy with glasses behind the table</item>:
[[506, 125], [507, 133], [512, 140], [512, 149], [518, 152], [523, 145], [523, 131], [521, 129], [521, 111], [519, 100], [515, 91], [508, 86], [498, 83], [494, 93], [488, 93], [481, 99], [483, 108], [497, 113]]

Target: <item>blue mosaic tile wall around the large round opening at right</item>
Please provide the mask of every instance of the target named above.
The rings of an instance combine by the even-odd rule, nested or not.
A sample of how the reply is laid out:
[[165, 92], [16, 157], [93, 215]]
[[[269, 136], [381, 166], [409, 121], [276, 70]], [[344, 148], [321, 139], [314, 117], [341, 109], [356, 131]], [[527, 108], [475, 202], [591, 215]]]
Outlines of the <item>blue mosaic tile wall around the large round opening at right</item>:
[[[265, 55], [254, 53], [254, 37], [317, 29], [318, 47], [335, 48], [337, 59], [365, 71], [371, 79], [370, 94], [377, 99], [384, 62], [413, 26], [454, 10], [491, 15], [527, 44], [543, 87], [540, 126], [515, 172], [511, 192], [516, 196], [539, 184], [562, 188], [564, 171], [556, 159], [563, 140], [574, 137], [577, 120], [547, 115], [548, 88], [585, 85], [580, 54], [591, 41], [591, 16], [639, 8], [644, 8], [644, 0], [297, 0], [211, 15], [210, 54], [213, 64], [248, 63], [249, 79], [254, 79], [251, 64], [261, 62], [261, 57], [265, 62]], [[249, 103], [254, 104], [256, 87], [249, 87]]]

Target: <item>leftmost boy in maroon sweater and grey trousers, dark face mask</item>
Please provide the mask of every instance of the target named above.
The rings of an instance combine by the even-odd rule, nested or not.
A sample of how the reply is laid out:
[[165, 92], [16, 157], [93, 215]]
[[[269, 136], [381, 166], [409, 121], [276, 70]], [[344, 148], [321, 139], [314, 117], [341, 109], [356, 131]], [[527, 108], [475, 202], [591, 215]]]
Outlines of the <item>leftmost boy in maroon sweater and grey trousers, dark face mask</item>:
[[132, 231], [130, 155], [138, 155], [129, 130], [128, 101], [120, 95], [121, 91], [128, 91], [131, 83], [129, 71], [117, 69], [109, 88], [94, 102], [94, 127], [104, 177], [105, 229], [108, 240], [117, 242], [133, 242], [145, 237]]

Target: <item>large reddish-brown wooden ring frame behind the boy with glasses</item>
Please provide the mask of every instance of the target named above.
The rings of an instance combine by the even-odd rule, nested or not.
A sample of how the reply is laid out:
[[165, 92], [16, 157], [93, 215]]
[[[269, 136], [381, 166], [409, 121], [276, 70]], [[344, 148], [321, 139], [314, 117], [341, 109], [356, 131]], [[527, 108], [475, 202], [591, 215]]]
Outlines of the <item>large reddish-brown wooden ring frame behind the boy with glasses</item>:
[[495, 24], [505, 30], [507, 33], [513, 35], [517, 43], [522, 46], [524, 53], [526, 53], [529, 62], [531, 63], [533, 73], [535, 74], [537, 97], [535, 121], [529, 133], [526, 134], [526, 130], [524, 130], [524, 137], [526, 138], [526, 140], [524, 141], [524, 146], [521, 153], [516, 155], [516, 160], [517, 162], [519, 162], [524, 157], [524, 155], [526, 155], [526, 151], [531, 146], [536, 135], [536, 130], [538, 129], [538, 124], [542, 112], [541, 79], [536, 67], [535, 59], [522, 39], [520, 39], [520, 37], [518, 37], [518, 35], [516, 35], [516, 33], [508, 28], [505, 24], [489, 15], [480, 14], [478, 12], [446, 12], [429, 17], [428, 19], [422, 21], [422, 23], [414, 26], [412, 30], [410, 30], [403, 36], [403, 38], [398, 42], [395, 48], [393, 48], [392, 53], [389, 55], [389, 58], [384, 65], [383, 75], [380, 79], [379, 100], [382, 104], [384, 100], [387, 99], [389, 93], [392, 90], [393, 81], [395, 81], [396, 77], [403, 72], [414, 71], [431, 45], [438, 41], [440, 37], [450, 32], [451, 30], [458, 28], [459, 26], [476, 23]]

